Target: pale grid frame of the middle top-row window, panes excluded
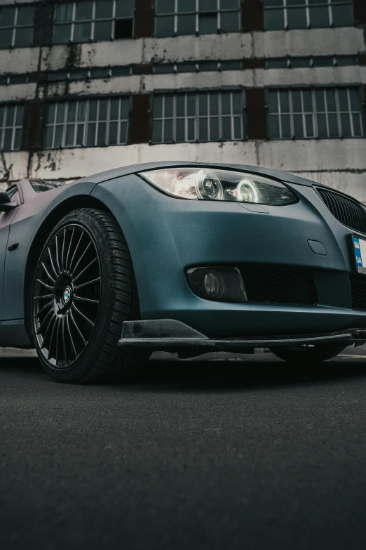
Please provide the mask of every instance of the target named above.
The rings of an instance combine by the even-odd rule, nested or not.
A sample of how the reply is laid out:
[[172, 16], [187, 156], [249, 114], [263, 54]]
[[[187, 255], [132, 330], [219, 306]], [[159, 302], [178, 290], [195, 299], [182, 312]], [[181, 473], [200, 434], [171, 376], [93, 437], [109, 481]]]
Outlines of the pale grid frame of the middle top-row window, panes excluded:
[[[182, 12], [182, 11], [178, 11], [178, 1], [179, 0], [174, 0], [174, 2], [175, 2], [174, 11], [173, 12], [172, 11], [166, 11], [166, 12], [162, 12], [162, 13], [158, 13], [158, 8], [157, 8], [158, 0], [155, 0], [155, 1], [156, 1], [156, 6], [155, 6], [154, 36], [156, 38], [192, 36], [192, 34], [179, 34], [178, 33], [178, 18], [179, 18], [179, 15], [195, 15], [196, 30], [194, 31], [193, 34], [199, 35], [199, 34], [217, 34], [217, 33], [220, 33], [220, 32], [225, 32], [225, 31], [222, 31], [222, 27], [221, 27], [222, 13], [238, 13], [238, 30], [229, 31], [229, 32], [243, 32], [243, 24], [242, 24], [242, 17], [241, 17], [242, 6], [241, 6], [240, 1], [238, 1], [238, 8], [237, 9], [235, 9], [235, 8], [225, 9], [224, 8], [225, 0], [216, 0], [217, 1], [217, 10], [213, 11], [213, 10], [200, 10], [199, 0], [196, 0], [196, 9], [194, 11], [184, 11], [184, 12]], [[217, 28], [216, 28], [215, 33], [202, 33], [202, 32], [200, 33], [200, 30], [199, 30], [200, 15], [212, 15], [212, 13], [216, 13], [216, 15], [217, 15]], [[173, 30], [172, 34], [167, 34], [167, 35], [163, 35], [163, 36], [160, 36], [160, 35], [156, 34], [158, 19], [159, 18], [164, 18], [164, 17], [169, 17], [169, 16], [174, 18], [174, 30]]]

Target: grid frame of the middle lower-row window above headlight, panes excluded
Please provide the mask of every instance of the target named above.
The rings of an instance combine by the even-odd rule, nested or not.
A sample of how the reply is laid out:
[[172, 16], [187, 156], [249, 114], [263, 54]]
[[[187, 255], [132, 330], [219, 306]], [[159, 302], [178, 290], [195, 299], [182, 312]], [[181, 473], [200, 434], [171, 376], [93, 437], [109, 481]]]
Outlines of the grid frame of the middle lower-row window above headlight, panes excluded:
[[[219, 94], [219, 108], [218, 108], [218, 114], [217, 115], [210, 115], [209, 114], [209, 103], [208, 103], [208, 114], [201, 115], [199, 114], [199, 99], [200, 95], [206, 93], [206, 94]], [[224, 93], [231, 93], [231, 114], [229, 115], [222, 115], [222, 94]], [[240, 114], [233, 113], [233, 96], [232, 93], [240, 93], [241, 94], [241, 110]], [[195, 106], [195, 114], [194, 116], [187, 115], [187, 96], [195, 94], [196, 98], [196, 106]], [[173, 97], [173, 107], [172, 107], [172, 117], [155, 117], [154, 116], [154, 100], [156, 97], [162, 96], [165, 98], [165, 96], [172, 96]], [[177, 96], [186, 96], [184, 105], [185, 105], [185, 114], [184, 117], [177, 117]], [[163, 100], [164, 103], [164, 100]], [[246, 117], [246, 97], [245, 97], [245, 89], [243, 88], [228, 88], [228, 89], [184, 89], [179, 91], [171, 91], [171, 90], [158, 90], [154, 91], [154, 93], [151, 94], [151, 106], [150, 106], [150, 127], [149, 127], [149, 144], [150, 145], [164, 145], [164, 144], [177, 144], [177, 143], [222, 143], [224, 141], [246, 141], [248, 140], [248, 133], [247, 133], [247, 117]], [[164, 111], [162, 112], [162, 115], [164, 114]], [[199, 139], [199, 120], [200, 119], [207, 119], [208, 120], [208, 136], [210, 136], [210, 118], [216, 117], [218, 118], [218, 129], [219, 129], [219, 138], [217, 140], [210, 140], [209, 138], [207, 140], [200, 140]], [[231, 135], [233, 136], [234, 130], [234, 119], [240, 116], [240, 132], [241, 137], [240, 138], [231, 138], [231, 139], [224, 139], [222, 137], [222, 120], [224, 117], [230, 117], [231, 118]], [[165, 141], [163, 140], [164, 132], [163, 132], [163, 126], [166, 119], [172, 119], [172, 140]], [[184, 140], [177, 140], [177, 119], [184, 119]], [[194, 139], [187, 139], [188, 138], [188, 120], [194, 119]], [[154, 140], [154, 122], [156, 120], [161, 120], [162, 125], [162, 132], [161, 132], [161, 141], [155, 141]]]

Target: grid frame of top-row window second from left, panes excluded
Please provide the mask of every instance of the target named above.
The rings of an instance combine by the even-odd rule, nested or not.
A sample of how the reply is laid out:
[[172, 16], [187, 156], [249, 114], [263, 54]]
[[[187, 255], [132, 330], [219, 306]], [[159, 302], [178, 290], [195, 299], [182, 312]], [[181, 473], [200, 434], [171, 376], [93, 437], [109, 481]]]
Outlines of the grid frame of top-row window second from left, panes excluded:
[[[107, 18], [100, 18], [100, 19], [96, 19], [95, 18], [95, 11], [96, 11], [96, 2], [97, 0], [81, 0], [81, 1], [77, 1], [77, 0], [71, 0], [71, 1], [67, 1], [65, 4], [72, 4], [72, 19], [70, 20], [67, 20], [67, 21], [57, 21], [55, 16], [56, 16], [56, 11], [57, 11], [57, 5], [60, 5], [61, 3], [60, 2], [55, 2], [55, 9], [54, 9], [54, 19], [53, 19], [53, 31], [52, 31], [52, 44], [69, 44], [69, 43], [72, 43], [72, 44], [86, 44], [88, 42], [99, 42], [99, 41], [103, 41], [103, 40], [95, 40], [95, 22], [107, 22], [107, 21], [111, 21], [111, 37], [109, 38], [109, 40], [128, 40], [128, 39], [133, 39], [135, 37], [135, 0], [134, 0], [134, 6], [133, 6], [133, 14], [131, 17], [118, 17], [116, 18], [116, 2], [117, 0], [112, 0], [113, 1], [113, 10], [112, 10], [112, 15], [111, 17], [107, 17]], [[76, 6], [77, 4], [93, 4], [93, 7], [92, 7], [92, 15], [91, 15], [91, 18], [90, 19], [80, 19], [80, 20], [77, 20], [76, 19]], [[115, 30], [116, 30], [116, 20], [130, 20], [132, 19], [132, 33], [131, 33], [131, 36], [126, 38], [126, 39], [116, 39], [114, 38], [114, 34], [115, 34]], [[85, 39], [85, 40], [82, 40], [82, 41], [75, 41], [74, 40], [74, 37], [75, 37], [75, 25], [78, 25], [80, 23], [90, 23], [90, 37], [88, 39]], [[56, 27], [62, 27], [62, 26], [66, 26], [66, 25], [71, 25], [71, 30], [70, 30], [70, 37], [69, 39], [66, 41], [66, 42], [60, 42], [60, 41], [55, 41], [55, 29]]]

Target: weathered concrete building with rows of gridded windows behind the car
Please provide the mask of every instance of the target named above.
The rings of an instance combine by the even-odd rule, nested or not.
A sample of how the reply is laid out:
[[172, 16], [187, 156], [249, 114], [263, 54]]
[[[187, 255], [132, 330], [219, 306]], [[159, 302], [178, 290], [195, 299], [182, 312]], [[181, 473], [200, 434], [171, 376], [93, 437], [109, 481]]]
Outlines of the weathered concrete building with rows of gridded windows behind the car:
[[365, 0], [0, 0], [0, 185], [159, 159], [366, 202]]

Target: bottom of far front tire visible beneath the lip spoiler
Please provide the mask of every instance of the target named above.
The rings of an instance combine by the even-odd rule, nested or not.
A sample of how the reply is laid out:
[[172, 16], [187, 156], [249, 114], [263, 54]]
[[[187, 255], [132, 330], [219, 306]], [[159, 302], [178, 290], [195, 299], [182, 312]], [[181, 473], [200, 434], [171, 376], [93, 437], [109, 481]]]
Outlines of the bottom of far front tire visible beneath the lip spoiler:
[[299, 344], [298, 346], [278, 346], [269, 349], [276, 357], [284, 361], [322, 362], [336, 357], [345, 348], [346, 346], [341, 346], [337, 343], [318, 343], [314, 346]]

